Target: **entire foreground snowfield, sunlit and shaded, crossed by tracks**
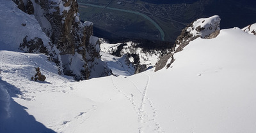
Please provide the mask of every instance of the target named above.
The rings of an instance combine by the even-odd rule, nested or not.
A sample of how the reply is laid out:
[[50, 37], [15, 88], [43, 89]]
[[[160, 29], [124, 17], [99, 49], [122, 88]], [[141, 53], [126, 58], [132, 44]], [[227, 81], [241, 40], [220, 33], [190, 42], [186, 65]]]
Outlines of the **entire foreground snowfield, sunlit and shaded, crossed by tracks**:
[[[44, 54], [1, 49], [0, 132], [254, 133], [255, 41], [225, 29], [191, 41], [170, 69], [79, 82]], [[43, 82], [30, 80], [38, 66]]]

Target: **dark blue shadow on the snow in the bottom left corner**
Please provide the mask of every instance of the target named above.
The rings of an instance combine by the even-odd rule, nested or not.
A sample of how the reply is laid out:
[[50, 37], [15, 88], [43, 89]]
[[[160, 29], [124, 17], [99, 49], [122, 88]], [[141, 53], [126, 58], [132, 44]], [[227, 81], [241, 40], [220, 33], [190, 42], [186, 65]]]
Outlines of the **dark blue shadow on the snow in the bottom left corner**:
[[25, 110], [28, 108], [13, 101], [17, 95], [22, 95], [19, 88], [0, 77], [0, 132], [54, 132], [29, 115]]

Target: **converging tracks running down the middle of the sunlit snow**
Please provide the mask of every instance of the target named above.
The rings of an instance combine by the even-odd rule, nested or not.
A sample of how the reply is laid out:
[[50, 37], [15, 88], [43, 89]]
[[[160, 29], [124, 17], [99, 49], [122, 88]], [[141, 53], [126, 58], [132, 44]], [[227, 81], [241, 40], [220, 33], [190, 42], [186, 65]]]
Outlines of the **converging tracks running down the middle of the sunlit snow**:
[[[150, 83], [150, 76], [148, 74], [145, 74], [147, 76], [147, 81], [145, 88], [143, 88], [143, 92], [138, 88], [138, 86], [131, 80], [129, 77], [127, 79], [129, 80], [130, 83], [138, 90], [139, 94], [141, 95], [141, 102], [136, 103], [134, 101], [134, 95], [131, 94], [125, 94], [120, 90], [120, 88], [117, 87], [116, 82], [113, 80], [113, 77], [111, 76], [111, 80], [113, 82], [113, 85], [118, 92], [122, 93], [124, 97], [131, 102], [132, 107], [134, 108], [134, 111], [136, 111], [136, 114], [138, 115], [138, 122], [140, 123], [140, 127], [138, 128], [139, 133], [143, 132], [161, 132], [163, 133], [164, 131], [161, 131], [161, 127], [159, 123], [156, 121], [156, 115], [157, 111], [156, 108], [154, 108], [154, 104], [150, 99], [147, 97], [147, 90], [148, 90], [148, 84]], [[127, 85], [127, 84], [126, 84]], [[139, 106], [137, 106], [139, 105]], [[146, 111], [145, 106], [149, 107], [149, 109]], [[145, 131], [147, 130], [147, 131]]]

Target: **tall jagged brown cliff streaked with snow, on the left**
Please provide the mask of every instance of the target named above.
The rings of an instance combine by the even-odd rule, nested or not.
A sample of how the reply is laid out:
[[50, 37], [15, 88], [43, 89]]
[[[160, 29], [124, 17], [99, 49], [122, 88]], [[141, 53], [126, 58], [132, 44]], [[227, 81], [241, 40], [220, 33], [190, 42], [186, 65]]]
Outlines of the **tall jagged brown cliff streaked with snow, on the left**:
[[[76, 80], [109, 74], [106, 65], [100, 60], [100, 43], [99, 38], [93, 37], [93, 23], [83, 24], [80, 21], [76, 0], [13, 0], [13, 2], [20, 10], [35, 16], [42, 30], [51, 39], [51, 43], [60, 51], [64, 74], [74, 76]], [[40, 38], [35, 38], [33, 41], [26, 41], [26, 38], [24, 40], [20, 48], [26, 46], [27, 52], [33, 52], [31, 49], [35, 49], [35, 46], [39, 46], [37, 49], [42, 47], [31, 45], [35, 41], [40, 42]], [[29, 46], [31, 48], [28, 48]], [[96, 71], [98, 69], [100, 74]]]

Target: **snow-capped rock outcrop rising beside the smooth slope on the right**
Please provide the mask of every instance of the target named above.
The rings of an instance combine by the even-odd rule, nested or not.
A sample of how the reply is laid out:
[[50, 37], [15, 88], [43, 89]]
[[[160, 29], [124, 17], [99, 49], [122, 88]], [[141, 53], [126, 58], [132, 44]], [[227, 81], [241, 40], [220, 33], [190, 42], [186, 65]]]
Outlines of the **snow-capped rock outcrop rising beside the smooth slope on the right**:
[[[170, 53], [164, 55], [157, 63], [155, 71], [170, 67], [174, 62], [173, 53], [183, 50], [185, 46], [196, 38], [211, 39], [216, 38], [220, 33], [220, 17], [215, 15], [209, 18], [200, 18], [189, 24], [182, 30], [180, 36], [177, 37], [175, 45]], [[169, 62], [169, 63], [168, 63]], [[168, 63], [168, 64], [167, 64]]]

